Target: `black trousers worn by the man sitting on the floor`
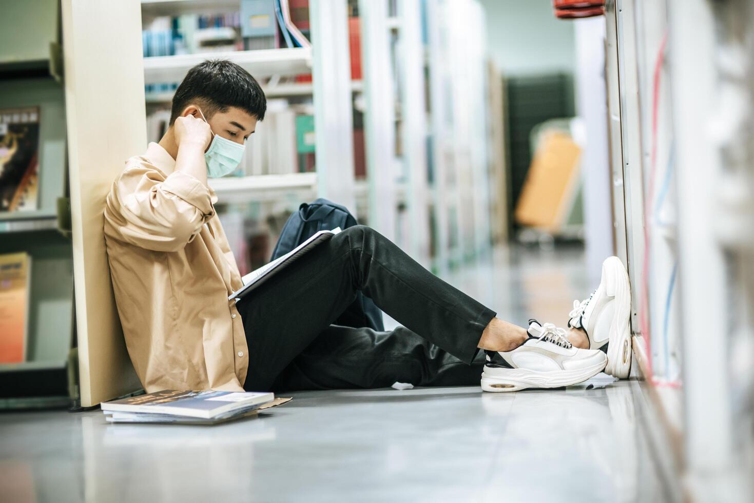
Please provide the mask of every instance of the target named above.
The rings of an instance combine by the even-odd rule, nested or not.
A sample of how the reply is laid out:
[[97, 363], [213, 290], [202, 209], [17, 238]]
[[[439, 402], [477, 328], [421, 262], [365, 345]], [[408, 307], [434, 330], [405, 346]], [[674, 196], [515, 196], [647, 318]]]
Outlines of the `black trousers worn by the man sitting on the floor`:
[[[331, 325], [359, 290], [403, 327]], [[495, 317], [363, 225], [320, 244], [237, 308], [249, 391], [478, 384], [477, 344]]]

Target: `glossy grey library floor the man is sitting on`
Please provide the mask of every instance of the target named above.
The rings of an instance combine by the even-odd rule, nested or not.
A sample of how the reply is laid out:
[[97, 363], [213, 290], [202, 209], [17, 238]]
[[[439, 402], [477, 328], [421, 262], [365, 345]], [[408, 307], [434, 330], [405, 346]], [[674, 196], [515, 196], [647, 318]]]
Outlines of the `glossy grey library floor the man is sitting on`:
[[[520, 324], [565, 323], [578, 250], [499, 250], [453, 282]], [[215, 427], [0, 414], [0, 501], [668, 501], [635, 381], [553, 391], [319, 391]]]

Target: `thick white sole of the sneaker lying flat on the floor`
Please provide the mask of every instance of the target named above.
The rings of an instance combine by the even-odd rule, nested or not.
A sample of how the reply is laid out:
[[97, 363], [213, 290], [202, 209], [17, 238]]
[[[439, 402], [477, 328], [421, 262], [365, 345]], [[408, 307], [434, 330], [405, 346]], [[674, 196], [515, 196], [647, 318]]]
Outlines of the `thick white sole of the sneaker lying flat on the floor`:
[[596, 376], [607, 363], [606, 358], [594, 363], [590, 367], [575, 370], [556, 370], [553, 372], [538, 372], [527, 369], [495, 369], [495, 376], [482, 373], [482, 391], [505, 393], [520, 391], [526, 388], [562, 388], [584, 382]]

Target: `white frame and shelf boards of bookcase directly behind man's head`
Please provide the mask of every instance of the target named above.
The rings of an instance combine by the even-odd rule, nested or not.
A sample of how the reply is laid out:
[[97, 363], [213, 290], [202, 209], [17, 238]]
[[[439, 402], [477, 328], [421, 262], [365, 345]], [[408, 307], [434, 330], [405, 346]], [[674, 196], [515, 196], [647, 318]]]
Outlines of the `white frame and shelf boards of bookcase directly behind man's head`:
[[[340, 5], [342, 3], [342, 5]], [[172, 2], [141, 2], [143, 20], [155, 16], [175, 16], [179, 14], [220, 14], [238, 11], [236, 2], [207, 2], [202, 0], [175, 0]], [[233, 201], [241, 201], [246, 196], [250, 201], [272, 201], [282, 194], [294, 194], [302, 197], [320, 195], [329, 197], [348, 206], [348, 199], [353, 198], [351, 190], [344, 189], [348, 186], [348, 180], [353, 179], [352, 173], [347, 173], [348, 162], [345, 158], [351, 158], [351, 121], [345, 121], [344, 110], [351, 110], [351, 94], [363, 92], [361, 81], [346, 80], [348, 94], [342, 96], [339, 93], [342, 87], [342, 71], [333, 71], [338, 67], [348, 70], [348, 53], [345, 57], [342, 48], [348, 48], [348, 30], [344, 2], [310, 2], [311, 38], [314, 44], [322, 51], [317, 52], [317, 58], [313, 58], [311, 48], [277, 48], [253, 51], [228, 51], [211, 52], [206, 54], [182, 54], [176, 56], [146, 57], [144, 58], [145, 84], [160, 84], [165, 82], [178, 82], [185, 73], [201, 61], [211, 58], [223, 58], [231, 60], [242, 66], [264, 85], [266, 78], [271, 82], [277, 82], [277, 78], [287, 75], [309, 74], [313, 75], [311, 83], [284, 83], [264, 85], [268, 99], [299, 99], [305, 103], [311, 100], [314, 108], [314, 121], [324, 121], [327, 127], [336, 129], [336, 136], [346, 137], [348, 140], [340, 140], [338, 143], [323, 141], [317, 135], [317, 177], [311, 173], [292, 173], [292, 176], [280, 177], [277, 175], [260, 175], [261, 180], [254, 180], [248, 176], [244, 182], [229, 183], [225, 180], [214, 180], [213, 186], [219, 188], [219, 202], [225, 202], [230, 197]], [[343, 23], [333, 23], [333, 19], [342, 19]], [[324, 26], [324, 29], [317, 29]], [[318, 69], [317, 67], [320, 67]], [[337, 83], [337, 84], [336, 84]], [[159, 106], [170, 103], [173, 91], [147, 94], [146, 102], [151, 106]], [[321, 106], [324, 104], [324, 106]], [[319, 108], [318, 108], [319, 107]], [[339, 115], [335, 120], [326, 118], [328, 115]], [[261, 127], [265, 127], [262, 124]], [[319, 129], [319, 128], [318, 128]], [[348, 154], [344, 152], [348, 150]], [[333, 153], [330, 153], [333, 152]], [[337, 153], [335, 153], [337, 152]], [[332, 161], [329, 161], [332, 159]], [[352, 166], [352, 165], [351, 165]], [[352, 168], [351, 168], [352, 170]], [[329, 173], [329, 174], [328, 174]], [[332, 175], [332, 176], [329, 176]], [[299, 181], [295, 176], [299, 176]], [[311, 180], [316, 183], [315, 192], [311, 191]], [[280, 185], [274, 185], [279, 183]], [[228, 188], [228, 190], [226, 190]]]

